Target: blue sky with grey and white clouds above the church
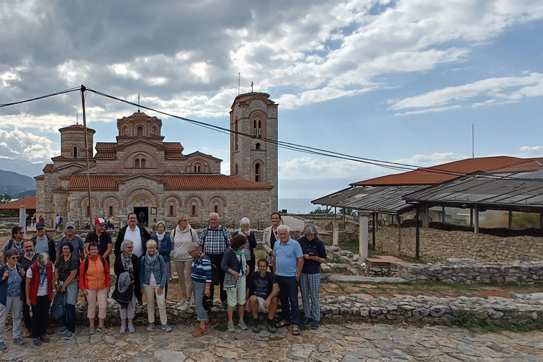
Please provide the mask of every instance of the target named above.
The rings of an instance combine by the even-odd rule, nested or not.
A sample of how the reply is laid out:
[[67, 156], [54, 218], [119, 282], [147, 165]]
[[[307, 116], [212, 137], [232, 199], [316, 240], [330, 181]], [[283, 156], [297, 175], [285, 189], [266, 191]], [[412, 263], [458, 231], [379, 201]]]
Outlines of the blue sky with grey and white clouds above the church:
[[[472, 156], [474, 124], [475, 156], [543, 156], [542, 18], [540, 0], [4, 1], [0, 103], [84, 84], [228, 127], [240, 73], [279, 103], [281, 141], [427, 166]], [[86, 103], [95, 141], [135, 111]], [[1, 108], [0, 158], [21, 162], [0, 165], [58, 155], [76, 112], [78, 93]], [[227, 135], [157, 116], [228, 173]], [[279, 197], [390, 172], [280, 150]]]

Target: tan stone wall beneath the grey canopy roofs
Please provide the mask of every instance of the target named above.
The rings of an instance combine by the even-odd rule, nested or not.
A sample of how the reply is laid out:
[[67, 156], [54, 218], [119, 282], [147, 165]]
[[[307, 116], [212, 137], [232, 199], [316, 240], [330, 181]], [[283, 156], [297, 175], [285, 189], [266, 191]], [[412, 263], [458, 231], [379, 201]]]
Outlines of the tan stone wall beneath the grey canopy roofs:
[[[419, 228], [419, 254], [424, 262], [470, 258], [479, 262], [542, 261], [543, 238], [499, 237], [467, 231]], [[385, 254], [415, 257], [416, 228], [387, 226], [375, 235], [375, 247]]]

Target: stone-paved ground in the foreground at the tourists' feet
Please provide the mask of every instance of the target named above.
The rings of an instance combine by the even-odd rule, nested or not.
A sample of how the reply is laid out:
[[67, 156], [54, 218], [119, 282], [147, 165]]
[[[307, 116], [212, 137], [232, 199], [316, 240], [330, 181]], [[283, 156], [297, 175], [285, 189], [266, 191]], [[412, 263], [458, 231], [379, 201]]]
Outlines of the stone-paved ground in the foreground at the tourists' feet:
[[543, 333], [472, 334], [449, 327], [398, 325], [321, 325], [305, 330], [302, 337], [267, 331], [235, 333], [210, 329], [204, 337], [192, 337], [195, 328], [173, 326], [134, 334], [97, 332], [78, 327], [76, 338], [66, 341], [56, 334], [52, 341], [34, 346], [14, 346], [6, 332], [8, 349], [2, 361], [541, 361]]

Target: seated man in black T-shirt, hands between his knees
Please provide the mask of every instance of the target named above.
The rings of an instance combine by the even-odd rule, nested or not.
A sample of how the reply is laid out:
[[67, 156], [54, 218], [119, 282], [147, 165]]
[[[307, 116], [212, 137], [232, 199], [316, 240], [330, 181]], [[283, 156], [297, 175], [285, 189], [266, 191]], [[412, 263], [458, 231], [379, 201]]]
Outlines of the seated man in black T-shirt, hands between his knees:
[[274, 315], [277, 309], [277, 294], [279, 294], [279, 284], [275, 280], [274, 274], [268, 272], [267, 259], [259, 259], [258, 271], [247, 276], [247, 303], [245, 310], [252, 313], [255, 319], [255, 325], [252, 332], [259, 333], [260, 325], [258, 322], [258, 313], [267, 313], [267, 327], [270, 333], [275, 333]]

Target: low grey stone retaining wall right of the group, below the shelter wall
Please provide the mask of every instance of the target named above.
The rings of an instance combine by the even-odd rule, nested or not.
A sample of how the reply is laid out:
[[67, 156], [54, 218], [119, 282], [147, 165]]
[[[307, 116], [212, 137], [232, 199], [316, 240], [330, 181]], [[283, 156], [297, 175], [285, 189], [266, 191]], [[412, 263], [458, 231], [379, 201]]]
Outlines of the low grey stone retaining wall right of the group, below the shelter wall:
[[543, 283], [543, 262], [481, 263], [473, 259], [447, 259], [436, 264], [398, 264], [397, 276], [407, 281], [447, 284]]

